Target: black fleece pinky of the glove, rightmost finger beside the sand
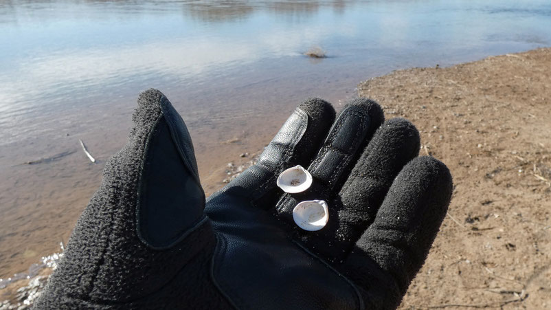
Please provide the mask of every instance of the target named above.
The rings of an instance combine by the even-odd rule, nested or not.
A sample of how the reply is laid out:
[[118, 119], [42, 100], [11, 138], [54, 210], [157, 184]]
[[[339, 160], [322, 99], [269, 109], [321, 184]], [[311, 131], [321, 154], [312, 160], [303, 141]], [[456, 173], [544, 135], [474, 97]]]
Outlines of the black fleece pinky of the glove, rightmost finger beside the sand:
[[[433, 157], [416, 157], [398, 174], [374, 222], [343, 265], [344, 273], [364, 291], [368, 305], [398, 307], [427, 258], [452, 188], [448, 168]], [[390, 300], [395, 305], [389, 305], [394, 304]]]

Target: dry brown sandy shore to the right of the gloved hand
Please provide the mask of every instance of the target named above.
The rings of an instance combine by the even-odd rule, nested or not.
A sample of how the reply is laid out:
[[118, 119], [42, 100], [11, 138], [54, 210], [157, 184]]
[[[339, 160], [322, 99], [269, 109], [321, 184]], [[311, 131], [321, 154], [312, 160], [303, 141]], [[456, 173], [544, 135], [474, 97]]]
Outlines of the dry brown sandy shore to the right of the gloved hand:
[[[441, 159], [454, 177], [449, 215], [401, 309], [551, 307], [549, 67], [551, 49], [536, 49], [395, 71], [359, 85], [359, 95], [378, 101], [387, 118], [414, 122], [421, 154]], [[207, 192], [223, 186], [227, 171], [203, 178]], [[74, 223], [78, 213], [59, 216]], [[21, 261], [3, 266], [7, 274], [16, 268]], [[0, 300], [13, 291], [0, 289]]]

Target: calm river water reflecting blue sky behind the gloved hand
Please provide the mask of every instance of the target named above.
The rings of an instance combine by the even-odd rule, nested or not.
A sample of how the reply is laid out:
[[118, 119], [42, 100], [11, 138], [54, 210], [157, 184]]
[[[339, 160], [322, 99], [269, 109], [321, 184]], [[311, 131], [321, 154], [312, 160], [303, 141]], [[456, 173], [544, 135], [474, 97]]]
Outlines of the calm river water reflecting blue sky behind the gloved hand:
[[[258, 150], [308, 96], [339, 107], [394, 69], [547, 46], [550, 17], [545, 0], [1, 1], [2, 268], [23, 270], [14, 252], [39, 257], [67, 236], [102, 168], [78, 139], [104, 163], [143, 89], [183, 113], [212, 185], [216, 167]], [[303, 55], [317, 46], [328, 58]]]

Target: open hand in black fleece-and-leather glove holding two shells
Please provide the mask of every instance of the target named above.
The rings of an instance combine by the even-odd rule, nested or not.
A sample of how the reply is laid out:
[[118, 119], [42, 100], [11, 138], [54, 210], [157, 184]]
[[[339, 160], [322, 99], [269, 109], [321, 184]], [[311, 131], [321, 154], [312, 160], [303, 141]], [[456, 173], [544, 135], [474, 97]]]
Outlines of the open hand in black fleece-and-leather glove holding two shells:
[[[352, 100], [335, 122], [306, 100], [258, 163], [206, 201], [190, 135], [166, 97], [142, 93], [134, 128], [107, 162], [36, 309], [393, 309], [447, 212], [449, 170], [417, 157], [401, 118]], [[312, 186], [287, 194], [300, 164]], [[323, 199], [327, 225], [297, 227]], [[205, 206], [206, 205], [206, 206]]]

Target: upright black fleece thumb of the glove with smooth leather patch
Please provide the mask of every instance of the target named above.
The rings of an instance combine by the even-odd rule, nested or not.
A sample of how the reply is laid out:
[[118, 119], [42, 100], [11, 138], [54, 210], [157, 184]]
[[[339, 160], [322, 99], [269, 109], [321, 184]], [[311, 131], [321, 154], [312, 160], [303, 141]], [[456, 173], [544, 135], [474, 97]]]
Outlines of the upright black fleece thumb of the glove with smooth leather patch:
[[212, 254], [216, 239], [183, 120], [150, 89], [139, 96], [133, 122], [36, 307], [80, 309], [157, 296], [192, 258]]

